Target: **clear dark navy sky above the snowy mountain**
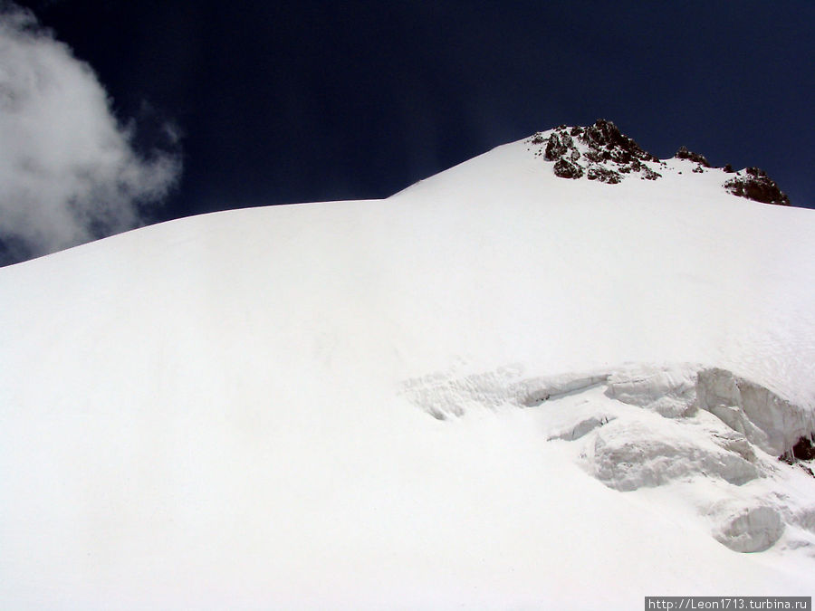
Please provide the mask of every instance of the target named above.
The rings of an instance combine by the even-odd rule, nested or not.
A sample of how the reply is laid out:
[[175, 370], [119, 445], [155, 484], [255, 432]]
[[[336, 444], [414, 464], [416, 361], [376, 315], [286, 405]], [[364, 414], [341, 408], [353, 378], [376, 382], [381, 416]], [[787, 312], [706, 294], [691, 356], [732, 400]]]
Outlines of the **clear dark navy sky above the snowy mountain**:
[[763, 167], [815, 207], [815, 3], [19, 2], [139, 144], [182, 134], [156, 220], [389, 196], [599, 117], [658, 157]]

